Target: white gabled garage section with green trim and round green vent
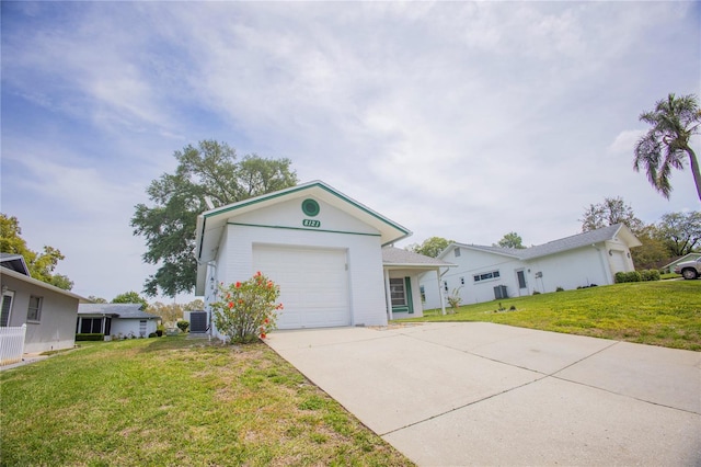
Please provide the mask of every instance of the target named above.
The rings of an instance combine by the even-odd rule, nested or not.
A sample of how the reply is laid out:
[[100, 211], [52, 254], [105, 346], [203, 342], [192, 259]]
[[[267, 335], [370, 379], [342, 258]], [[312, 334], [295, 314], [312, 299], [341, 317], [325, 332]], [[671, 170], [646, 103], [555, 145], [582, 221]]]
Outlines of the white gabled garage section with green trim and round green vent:
[[384, 326], [382, 247], [410, 235], [323, 182], [300, 184], [198, 216], [195, 294], [208, 309], [217, 284], [261, 271], [280, 286], [279, 329]]

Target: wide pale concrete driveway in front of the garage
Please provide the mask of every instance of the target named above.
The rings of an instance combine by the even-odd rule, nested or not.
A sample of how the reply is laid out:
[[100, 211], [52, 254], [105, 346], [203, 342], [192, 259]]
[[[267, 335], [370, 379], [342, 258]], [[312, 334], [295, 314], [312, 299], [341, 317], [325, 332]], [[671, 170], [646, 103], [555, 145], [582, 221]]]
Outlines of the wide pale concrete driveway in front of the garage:
[[701, 353], [492, 323], [267, 343], [422, 466], [701, 466]]

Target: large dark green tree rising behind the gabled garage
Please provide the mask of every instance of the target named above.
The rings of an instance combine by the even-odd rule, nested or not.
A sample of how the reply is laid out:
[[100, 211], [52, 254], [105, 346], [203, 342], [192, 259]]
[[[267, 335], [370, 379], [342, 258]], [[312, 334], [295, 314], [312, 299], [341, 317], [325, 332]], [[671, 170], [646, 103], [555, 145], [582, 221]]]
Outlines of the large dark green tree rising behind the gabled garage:
[[153, 180], [147, 193], [152, 206], [138, 204], [131, 218], [134, 235], [146, 239], [143, 261], [157, 264], [145, 283], [145, 293], [174, 297], [195, 288], [195, 226], [197, 215], [215, 206], [283, 190], [297, 184], [289, 159], [264, 159], [256, 155], [240, 161], [225, 143], [199, 141], [174, 152], [175, 173]]

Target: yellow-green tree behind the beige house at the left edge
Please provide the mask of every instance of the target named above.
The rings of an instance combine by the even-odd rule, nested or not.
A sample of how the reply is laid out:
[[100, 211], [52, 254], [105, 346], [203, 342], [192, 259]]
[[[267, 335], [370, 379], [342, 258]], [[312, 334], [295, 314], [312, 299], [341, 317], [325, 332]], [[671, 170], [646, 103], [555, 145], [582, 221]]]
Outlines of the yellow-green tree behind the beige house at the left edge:
[[65, 291], [73, 288], [72, 281], [67, 276], [54, 275], [58, 262], [66, 259], [60, 250], [48, 246], [44, 247], [42, 253], [30, 250], [21, 235], [18, 218], [0, 214], [0, 251], [22, 255], [32, 277]]

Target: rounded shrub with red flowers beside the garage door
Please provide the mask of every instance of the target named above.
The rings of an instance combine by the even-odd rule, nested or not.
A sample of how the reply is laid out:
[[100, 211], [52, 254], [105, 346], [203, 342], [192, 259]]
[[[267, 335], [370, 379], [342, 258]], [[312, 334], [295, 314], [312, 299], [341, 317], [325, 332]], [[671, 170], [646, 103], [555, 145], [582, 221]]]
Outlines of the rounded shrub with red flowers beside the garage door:
[[255, 342], [275, 329], [280, 288], [258, 271], [245, 282], [219, 284], [219, 300], [210, 304], [212, 320], [231, 343]]

